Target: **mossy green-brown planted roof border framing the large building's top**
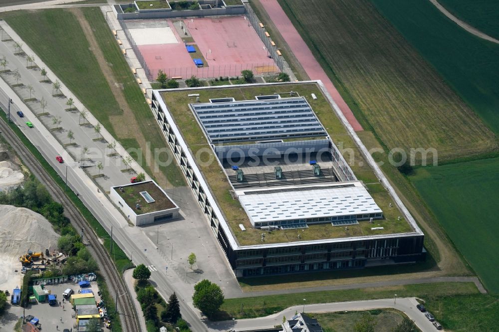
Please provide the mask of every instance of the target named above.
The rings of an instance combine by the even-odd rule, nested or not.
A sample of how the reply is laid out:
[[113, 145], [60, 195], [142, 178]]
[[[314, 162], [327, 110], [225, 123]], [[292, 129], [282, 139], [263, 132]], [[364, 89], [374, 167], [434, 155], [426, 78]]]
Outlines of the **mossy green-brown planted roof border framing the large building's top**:
[[[362, 156], [360, 156], [360, 152], [348, 136], [346, 129], [342, 126], [339, 119], [333, 114], [333, 110], [329, 106], [329, 103], [315, 84], [222, 88], [197, 90], [196, 93], [199, 93], [200, 95], [200, 102], [208, 102], [209, 98], [231, 96], [236, 100], [247, 100], [253, 99], [256, 95], [273, 94], [276, 91], [285, 92], [291, 90], [298, 92], [300, 96], [310, 96], [311, 93], [315, 93], [318, 96], [318, 99], [313, 100], [310, 98], [308, 102], [321, 120], [322, 124], [330, 133], [333, 141], [338, 145], [343, 144], [351, 148], [352, 153], [356, 157], [350, 164], [353, 171], [360, 172], [360, 179], [367, 179], [371, 182], [377, 181], [374, 172], [369, 166], [367, 166], [367, 163]], [[187, 95], [188, 94], [185, 91], [172, 91], [163, 93], [163, 98], [165, 99], [170, 112], [173, 114], [175, 122], [180, 128], [182, 128], [184, 139], [190, 146], [193, 155], [199, 155], [201, 157], [201, 161], [207, 161], [209, 159], [215, 160], [216, 157], [208, 146], [206, 137], [188, 107], [188, 103], [192, 103], [193, 100]], [[283, 97], [284, 96], [288, 95], [283, 95]], [[248, 216], [241, 210], [241, 204], [238, 200], [232, 198], [230, 194], [231, 186], [229, 182], [227, 182], [226, 175], [221, 172], [218, 163], [202, 163], [200, 165], [203, 165], [201, 166], [201, 170], [203, 171], [204, 176], [208, 179], [211, 190], [215, 194], [219, 206], [224, 211], [229, 225], [231, 225], [232, 231], [236, 235], [239, 243], [241, 245], [250, 245], [260, 242], [260, 232], [257, 229], [251, 228]], [[311, 225], [309, 228], [300, 230], [301, 241], [322, 238], [410, 232], [412, 228], [404, 219], [397, 221], [397, 218], [401, 215], [401, 213], [394, 207], [388, 207], [390, 202], [392, 202], [388, 193], [386, 191], [375, 190], [374, 188], [373, 190], [375, 192], [373, 192], [372, 195], [385, 214], [386, 219], [376, 221], [376, 223], [379, 223], [380, 226], [384, 227], [383, 230], [372, 231], [372, 224], [369, 224], [368, 221], [360, 221], [359, 225], [348, 226], [347, 230], [343, 227], [331, 227], [330, 224]], [[238, 226], [239, 224], [244, 224], [247, 230], [244, 232], [241, 231]], [[296, 240], [296, 231], [268, 232], [265, 237], [266, 243], [292, 242]]]

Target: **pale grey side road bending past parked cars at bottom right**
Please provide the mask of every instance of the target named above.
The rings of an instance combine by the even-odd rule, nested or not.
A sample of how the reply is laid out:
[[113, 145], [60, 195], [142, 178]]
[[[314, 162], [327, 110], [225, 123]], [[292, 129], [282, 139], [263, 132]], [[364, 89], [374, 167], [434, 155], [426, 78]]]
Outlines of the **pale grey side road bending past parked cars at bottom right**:
[[[401, 299], [384, 299], [384, 300], [370, 300], [370, 301], [353, 301], [353, 302], [337, 302], [337, 303], [324, 303], [317, 305], [305, 305], [305, 306], [294, 306], [281, 311], [280, 313], [273, 314], [266, 317], [248, 319], [248, 320], [236, 320], [235, 329], [236, 331], [246, 331], [252, 329], [269, 329], [275, 325], [280, 325], [282, 323], [282, 317], [285, 316], [286, 319], [290, 319], [294, 316], [295, 312], [305, 313], [327, 313], [327, 312], [338, 312], [338, 311], [361, 311], [361, 310], [371, 310], [371, 309], [384, 309], [393, 308], [405, 313], [411, 321], [413, 321], [418, 328], [423, 332], [436, 331], [435, 327], [432, 325], [425, 315], [421, 313], [416, 306], [418, 305], [416, 298], [401, 298]], [[220, 331], [232, 329], [233, 321], [224, 321], [217, 323], [210, 323], [212, 328], [217, 327]]]

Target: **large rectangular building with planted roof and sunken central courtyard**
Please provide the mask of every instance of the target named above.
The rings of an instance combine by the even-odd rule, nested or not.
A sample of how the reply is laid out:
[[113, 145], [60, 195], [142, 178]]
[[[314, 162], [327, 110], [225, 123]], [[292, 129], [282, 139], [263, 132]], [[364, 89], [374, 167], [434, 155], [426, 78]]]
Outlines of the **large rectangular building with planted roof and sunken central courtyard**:
[[424, 259], [423, 232], [319, 81], [154, 90], [151, 107], [237, 277]]

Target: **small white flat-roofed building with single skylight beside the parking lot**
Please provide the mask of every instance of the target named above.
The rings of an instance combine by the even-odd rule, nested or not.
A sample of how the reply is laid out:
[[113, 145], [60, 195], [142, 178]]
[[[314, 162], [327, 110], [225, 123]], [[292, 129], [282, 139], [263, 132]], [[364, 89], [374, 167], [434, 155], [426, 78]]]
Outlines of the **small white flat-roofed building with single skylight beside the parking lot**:
[[180, 207], [153, 180], [111, 187], [110, 197], [134, 225], [177, 218]]

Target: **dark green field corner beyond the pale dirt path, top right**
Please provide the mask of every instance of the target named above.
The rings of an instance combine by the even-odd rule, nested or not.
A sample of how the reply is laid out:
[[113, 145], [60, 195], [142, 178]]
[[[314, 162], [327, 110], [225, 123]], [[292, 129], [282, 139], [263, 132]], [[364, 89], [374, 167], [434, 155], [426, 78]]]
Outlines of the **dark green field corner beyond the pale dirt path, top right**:
[[499, 39], [499, 1], [439, 0], [454, 16]]

